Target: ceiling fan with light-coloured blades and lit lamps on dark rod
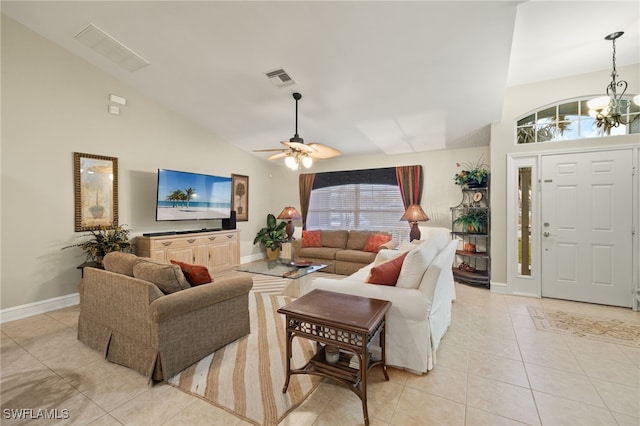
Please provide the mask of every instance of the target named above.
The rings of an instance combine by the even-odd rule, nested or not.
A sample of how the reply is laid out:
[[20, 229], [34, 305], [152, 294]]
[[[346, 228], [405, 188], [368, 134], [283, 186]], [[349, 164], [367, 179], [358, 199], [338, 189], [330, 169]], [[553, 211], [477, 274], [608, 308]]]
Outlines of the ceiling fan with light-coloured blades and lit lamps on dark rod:
[[278, 158], [284, 158], [285, 164], [293, 169], [298, 170], [301, 169], [302, 166], [305, 168], [311, 167], [313, 164], [313, 159], [325, 159], [325, 158], [333, 158], [337, 157], [341, 154], [337, 149], [328, 147], [326, 145], [320, 143], [304, 143], [304, 139], [298, 135], [298, 101], [302, 98], [300, 93], [294, 93], [293, 99], [296, 100], [296, 133], [295, 135], [289, 139], [288, 141], [280, 142], [283, 145], [286, 145], [287, 148], [276, 148], [276, 149], [256, 149], [253, 152], [277, 152], [277, 154], [272, 154], [268, 157], [268, 160], [276, 160]]

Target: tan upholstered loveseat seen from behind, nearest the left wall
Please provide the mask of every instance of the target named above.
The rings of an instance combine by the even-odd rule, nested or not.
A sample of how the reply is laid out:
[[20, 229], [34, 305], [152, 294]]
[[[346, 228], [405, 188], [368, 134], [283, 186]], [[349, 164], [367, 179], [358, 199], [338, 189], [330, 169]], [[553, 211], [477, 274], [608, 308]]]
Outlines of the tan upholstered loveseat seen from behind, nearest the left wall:
[[162, 381], [249, 334], [249, 275], [190, 287], [180, 267], [132, 254], [104, 266], [84, 270], [78, 339], [113, 363]]

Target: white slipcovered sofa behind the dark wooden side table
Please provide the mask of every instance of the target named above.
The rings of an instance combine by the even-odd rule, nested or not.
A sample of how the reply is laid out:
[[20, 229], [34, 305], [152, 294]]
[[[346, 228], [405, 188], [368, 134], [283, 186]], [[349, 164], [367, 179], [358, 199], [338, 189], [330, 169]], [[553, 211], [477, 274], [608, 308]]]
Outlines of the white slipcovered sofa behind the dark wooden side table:
[[[381, 250], [374, 263], [346, 278], [316, 278], [312, 283], [313, 289], [390, 301], [386, 364], [416, 374], [433, 369], [440, 339], [451, 323], [451, 302], [455, 299], [451, 267], [458, 242], [450, 239], [446, 228], [430, 228], [426, 234], [420, 244]], [[366, 282], [373, 267], [404, 251], [408, 253], [396, 286]]]

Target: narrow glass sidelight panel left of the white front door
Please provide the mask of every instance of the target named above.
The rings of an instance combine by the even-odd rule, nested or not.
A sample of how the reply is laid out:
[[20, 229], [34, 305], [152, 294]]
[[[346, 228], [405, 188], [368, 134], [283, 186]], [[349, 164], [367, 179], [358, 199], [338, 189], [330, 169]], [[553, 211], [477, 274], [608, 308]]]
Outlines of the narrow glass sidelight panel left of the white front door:
[[518, 271], [531, 276], [531, 167], [518, 168]]

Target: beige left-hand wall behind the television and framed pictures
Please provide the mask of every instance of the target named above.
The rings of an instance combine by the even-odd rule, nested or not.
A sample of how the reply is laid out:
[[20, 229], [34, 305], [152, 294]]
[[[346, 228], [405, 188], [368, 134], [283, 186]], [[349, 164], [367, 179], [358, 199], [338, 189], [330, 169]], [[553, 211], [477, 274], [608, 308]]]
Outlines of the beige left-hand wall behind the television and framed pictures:
[[[109, 94], [127, 98], [121, 115], [107, 113]], [[2, 308], [77, 292], [82, 251], [60, 250], [85, 234], [74, 232], [73, 152], [118, 158], [120, 223], [134, 234], [202, 227], [155, 222], [159, 167], [249, 175], [241, 252], [258, 251], [251, 243], [270, 210], [268, 163], [3, 16]]]

